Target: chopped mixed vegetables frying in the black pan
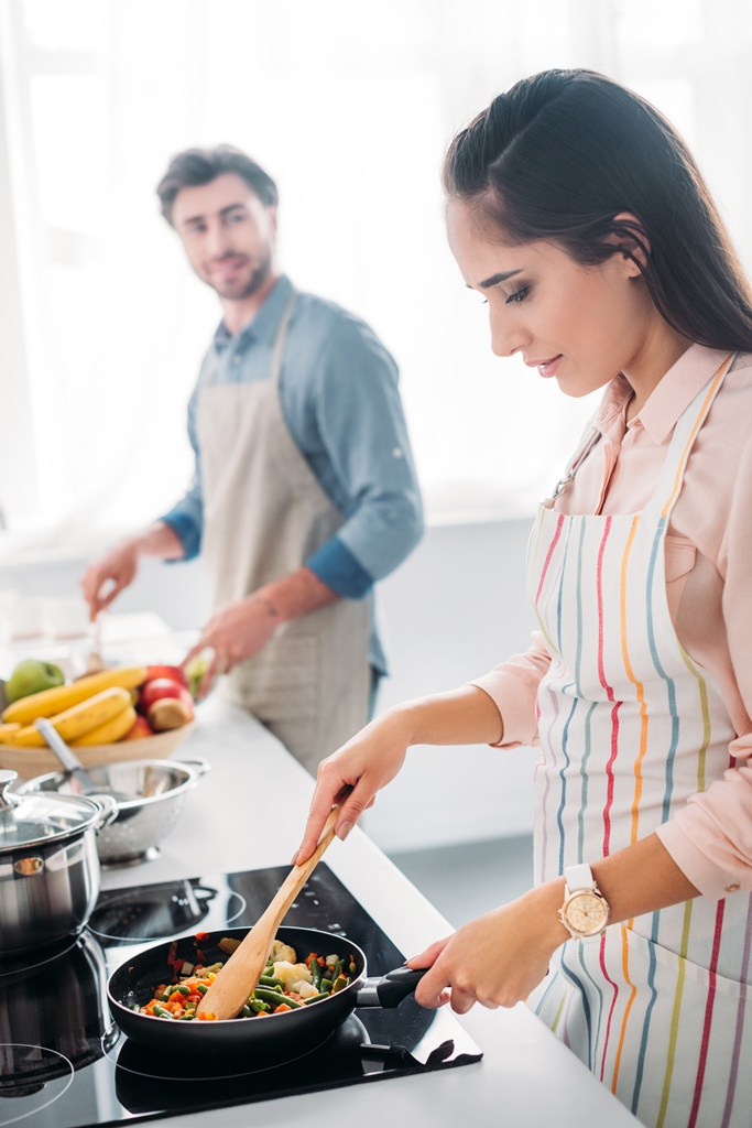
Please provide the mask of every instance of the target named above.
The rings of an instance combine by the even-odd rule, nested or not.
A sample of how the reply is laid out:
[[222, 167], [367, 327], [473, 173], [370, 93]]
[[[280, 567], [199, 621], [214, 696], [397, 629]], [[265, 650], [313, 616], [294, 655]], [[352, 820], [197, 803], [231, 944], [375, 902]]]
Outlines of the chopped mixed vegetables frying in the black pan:
[[[159, 984], [154, 987], [153, 998], [145, 1006], [134, 1003], [131, 1010], [154, 1019], [193, 1021], [202, 995], [206, 994], [224, 967], [222, 961], [206, 964], [206, 958], [198, 946], [204, 938], [206, 933], [196, 933], [196, 963], [178, 959], [177, 943], [174, 943], [167, 959], [174, 969], [172, 981]], [[239, 940], [225, 936], [216, 946], [229, 958], [239, 945]], [[271, 1014], [284, 1014], [311, 1003], [320, 1003], [329, 995], [348, 987], [356, 970], [355, 957], [352, 954], [347, 960], [337, 954], [319, 955], [311, 952], [298, 962], [294, 948], [275, 940], [264, 975], [238, 1017], [266, 1019]], [[198, 1016], [200, 1021], [212, 1021], [215, 1017], [211, 1013]]]

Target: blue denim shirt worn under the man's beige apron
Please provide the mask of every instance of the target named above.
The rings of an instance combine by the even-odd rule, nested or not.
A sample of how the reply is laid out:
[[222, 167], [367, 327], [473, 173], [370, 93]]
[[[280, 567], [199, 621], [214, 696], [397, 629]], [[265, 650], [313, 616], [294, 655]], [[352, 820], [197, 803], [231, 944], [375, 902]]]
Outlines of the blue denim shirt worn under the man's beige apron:
[[[282, 312], [292, 293], [282, 276], [248, 325], [232, 336], [220, 324], [188, 404], [196, 456], [185, 496], [162, 517], [184, 559], [201, 550], [203, 495], [196, 409], [212, 384], [267, 380]], [[210, 376], [211, 373], [211, 376]], [[397, 365], [373, 331], [334, 302], [300, 293], [280, 378], [284, 420], [324, 493], [345, 521], [304, 563], [328, 588], [361, 599], [415, 548], [423, 534], [421, 493], [398, 391]], [[386, 671], [373, 631], [371, 664]]]

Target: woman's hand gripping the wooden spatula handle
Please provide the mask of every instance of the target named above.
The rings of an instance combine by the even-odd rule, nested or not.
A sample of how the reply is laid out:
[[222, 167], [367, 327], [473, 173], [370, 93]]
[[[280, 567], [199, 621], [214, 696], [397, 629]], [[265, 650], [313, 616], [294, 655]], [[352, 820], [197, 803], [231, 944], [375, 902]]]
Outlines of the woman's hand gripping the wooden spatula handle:
[[302, 864], [313, 853], [336, 802], [340, 803], [336, 832], [339, 838], [347, 837], [363, 811], [373, 807], [377, 792], [395, 778], [410, 742], [407, 712], [395, 708], [371, 721], [321, 761], [306, 834], [293, 865]]

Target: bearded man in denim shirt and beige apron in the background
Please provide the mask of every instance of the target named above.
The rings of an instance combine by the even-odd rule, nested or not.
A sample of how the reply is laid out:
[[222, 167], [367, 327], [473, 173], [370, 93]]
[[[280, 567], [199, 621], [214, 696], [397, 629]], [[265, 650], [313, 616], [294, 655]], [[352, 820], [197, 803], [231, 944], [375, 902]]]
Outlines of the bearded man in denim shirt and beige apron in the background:
[[[386, 671], [372, 587], [423, 531], [392, 358], [363, 321], [298, 293], [277, 265], [277, 192], [221, 146], [172, 159], [162, 214], [223, 318], [188, 406], [196, 456], [185, 497], [92, 564], [92, 617], [142, 556], [203, 552], [213, 647], [231, 700], [312, 773], [368, 720]], [[187, 661], [187, 659], [186, 659]]]

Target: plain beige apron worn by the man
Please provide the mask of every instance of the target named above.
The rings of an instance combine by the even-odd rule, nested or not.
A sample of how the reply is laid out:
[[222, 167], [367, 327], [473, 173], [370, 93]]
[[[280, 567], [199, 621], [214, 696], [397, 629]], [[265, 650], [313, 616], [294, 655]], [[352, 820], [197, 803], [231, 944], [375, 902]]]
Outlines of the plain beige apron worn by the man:
[[[280, 373], [293, 293], [277, 329], [271, 378], [212, 384], [196, 417], [204, 502], [203, 552], [214, 606], [297, 571], [344, 523], [287, 430]], [[224, 679], [313, 775], [368, 721], [371, 597], [339, 599], [282, 624]]]

